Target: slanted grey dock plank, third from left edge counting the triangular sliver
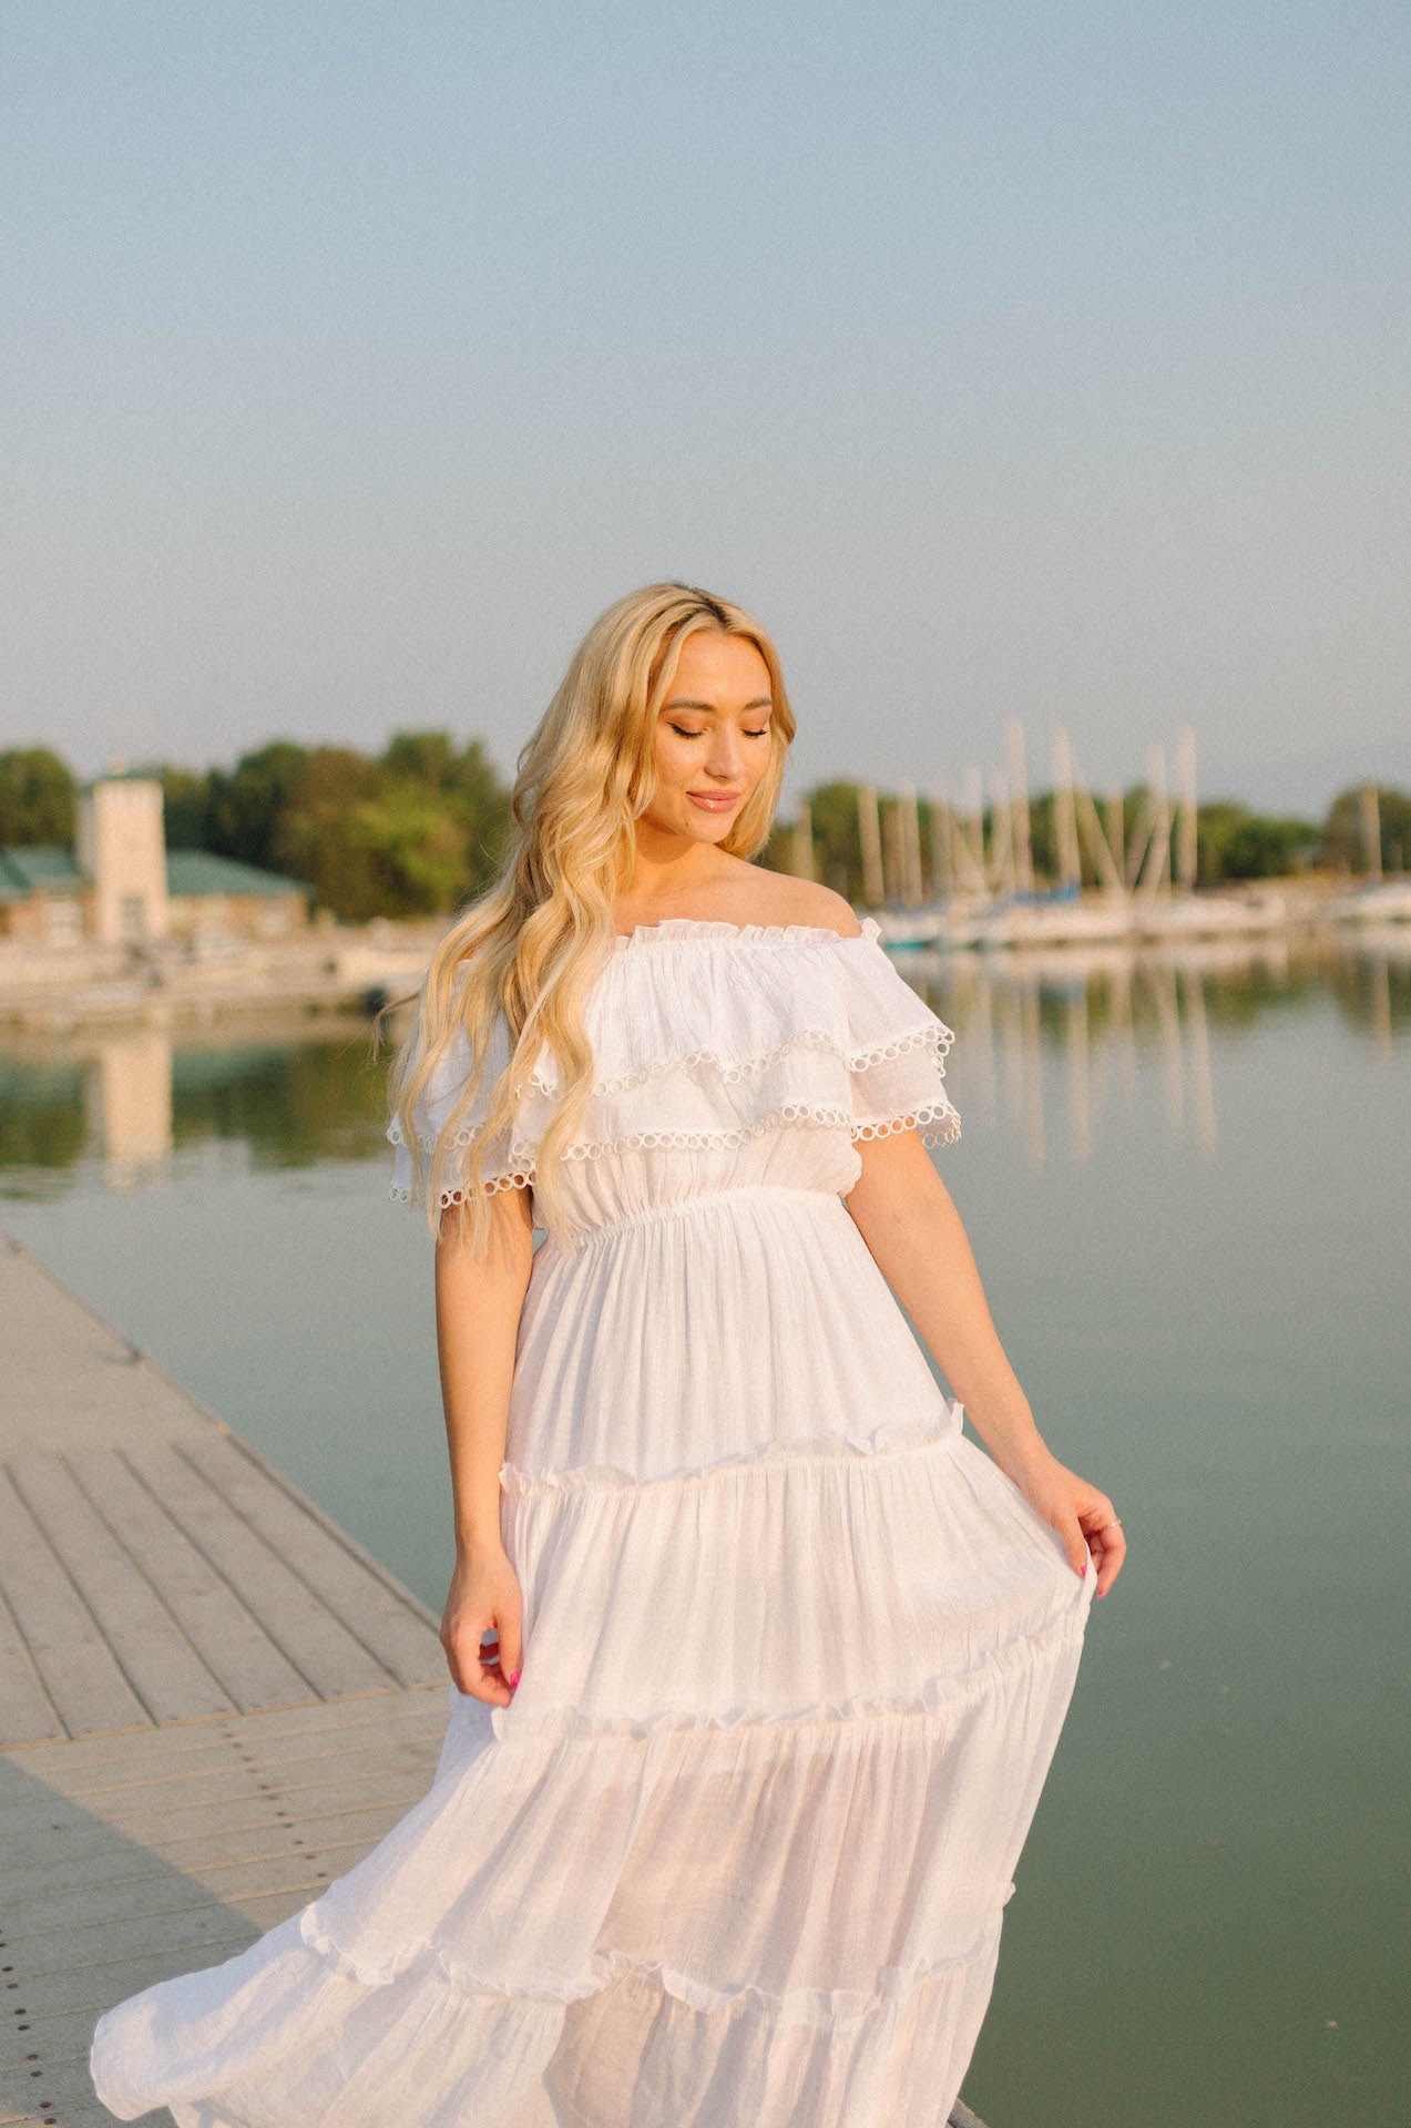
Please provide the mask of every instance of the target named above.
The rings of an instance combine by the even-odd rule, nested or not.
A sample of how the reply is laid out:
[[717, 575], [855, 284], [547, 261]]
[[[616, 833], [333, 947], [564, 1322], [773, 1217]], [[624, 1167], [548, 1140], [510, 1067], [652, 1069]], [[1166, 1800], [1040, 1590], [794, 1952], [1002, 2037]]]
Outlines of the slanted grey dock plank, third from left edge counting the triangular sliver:
[[230, 1698], [132, 1553], [96, 1513], [68, 1462], [32, 1451], [17, 1456], [9, 1473], [151, 1719], [192, 1722], [232, 1713]]

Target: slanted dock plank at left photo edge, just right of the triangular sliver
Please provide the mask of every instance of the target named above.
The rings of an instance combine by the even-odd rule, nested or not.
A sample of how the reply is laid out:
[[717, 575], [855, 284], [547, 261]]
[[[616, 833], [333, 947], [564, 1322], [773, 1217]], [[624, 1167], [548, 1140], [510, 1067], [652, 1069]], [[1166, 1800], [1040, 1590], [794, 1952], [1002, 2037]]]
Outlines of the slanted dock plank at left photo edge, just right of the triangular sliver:
[[6, 1470], [0, 1470], [0, 1594], [70, 1736], [149, 1726], [147, 1709]]

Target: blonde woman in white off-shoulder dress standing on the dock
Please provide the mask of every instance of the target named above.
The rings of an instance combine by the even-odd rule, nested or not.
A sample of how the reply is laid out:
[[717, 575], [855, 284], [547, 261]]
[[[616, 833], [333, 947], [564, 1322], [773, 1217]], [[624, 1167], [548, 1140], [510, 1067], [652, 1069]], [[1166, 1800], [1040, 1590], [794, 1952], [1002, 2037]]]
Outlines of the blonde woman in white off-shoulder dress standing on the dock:
[[875, 921], [749, 862], [792, 736], [764, 630], [666, 583], [526, 747], [392, 1079], [455, 1515], [436, 1777], [302, 1913], [100, 2022], [126, 2119], [939, 2128], [958, 2096], [1124, 1543], [924, 1149], [949, 1028]]

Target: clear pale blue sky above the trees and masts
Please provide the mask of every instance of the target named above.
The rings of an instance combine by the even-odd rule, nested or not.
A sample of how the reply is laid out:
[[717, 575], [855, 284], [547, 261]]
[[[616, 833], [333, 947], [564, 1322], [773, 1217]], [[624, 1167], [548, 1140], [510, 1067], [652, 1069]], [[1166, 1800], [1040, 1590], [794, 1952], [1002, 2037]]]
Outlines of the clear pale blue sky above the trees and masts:
[[1411, 781], [1411, 13], [15, 4], [0, 745], [481, 732], [690, 577], [826, 775]]

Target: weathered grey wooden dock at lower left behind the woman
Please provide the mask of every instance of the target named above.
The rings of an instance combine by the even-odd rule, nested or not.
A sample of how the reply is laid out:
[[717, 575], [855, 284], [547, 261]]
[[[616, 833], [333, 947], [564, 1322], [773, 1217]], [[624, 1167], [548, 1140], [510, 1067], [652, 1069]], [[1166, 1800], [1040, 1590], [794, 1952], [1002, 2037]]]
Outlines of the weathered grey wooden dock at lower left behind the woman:
[[0, 1321], [0, 2128], [94, 2128], [96, 2017], [353, 1868], [430, 1785], [447, 1668], [426, 1605], [6, 1236]]

